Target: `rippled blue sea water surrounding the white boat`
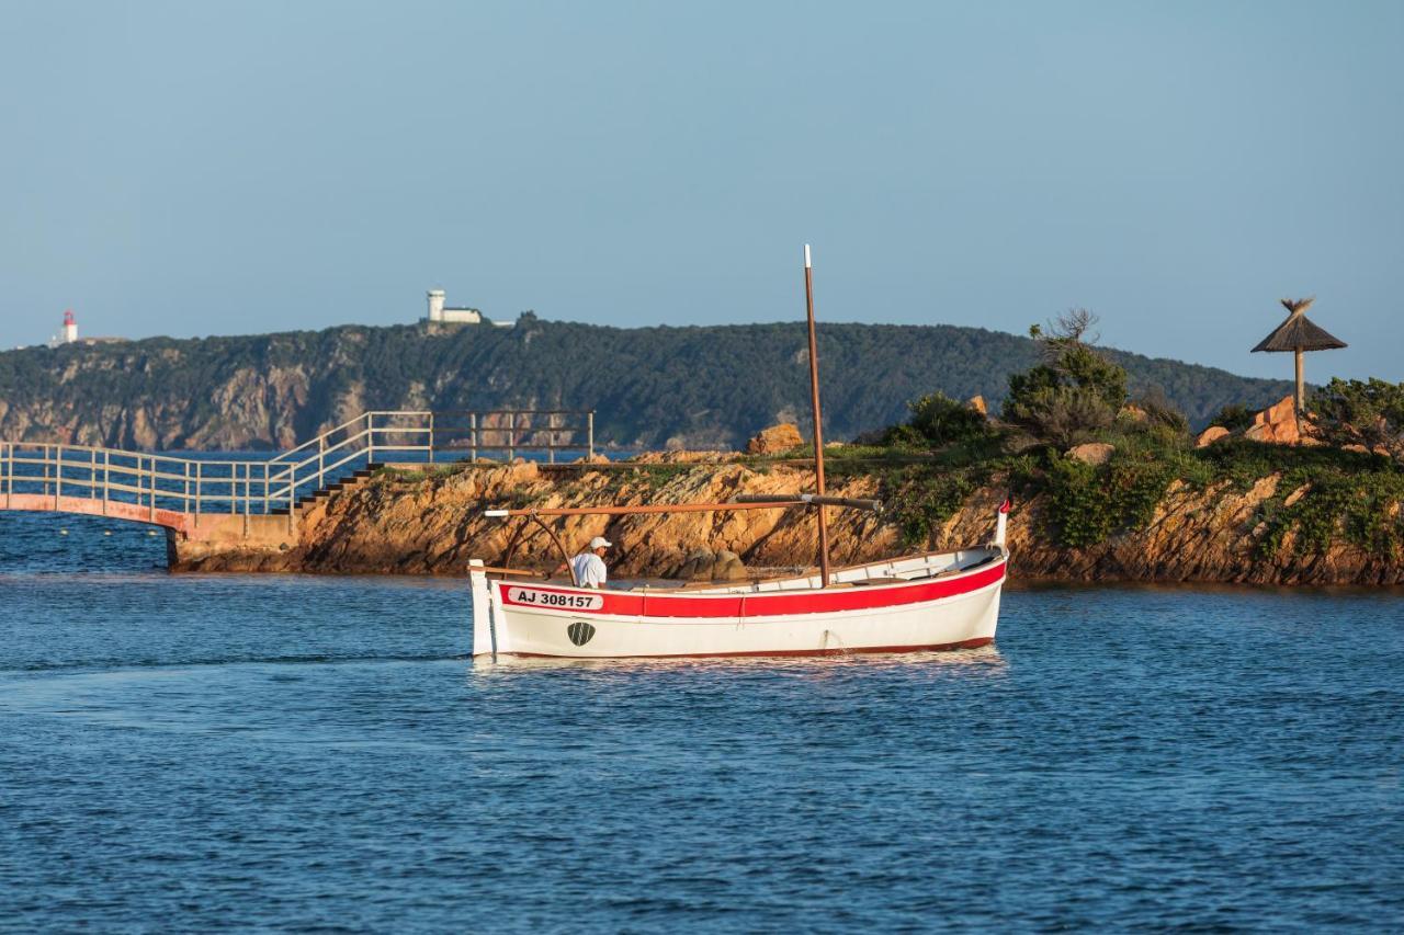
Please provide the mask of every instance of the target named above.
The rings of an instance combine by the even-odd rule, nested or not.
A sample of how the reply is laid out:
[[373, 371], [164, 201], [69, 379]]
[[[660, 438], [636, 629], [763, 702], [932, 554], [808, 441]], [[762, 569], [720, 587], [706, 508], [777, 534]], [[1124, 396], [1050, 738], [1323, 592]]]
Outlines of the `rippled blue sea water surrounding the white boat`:
[[475, 668], [463, 583], [163, 563], [0, 514], [0, 928], [1404, 927], [1400, 592]]

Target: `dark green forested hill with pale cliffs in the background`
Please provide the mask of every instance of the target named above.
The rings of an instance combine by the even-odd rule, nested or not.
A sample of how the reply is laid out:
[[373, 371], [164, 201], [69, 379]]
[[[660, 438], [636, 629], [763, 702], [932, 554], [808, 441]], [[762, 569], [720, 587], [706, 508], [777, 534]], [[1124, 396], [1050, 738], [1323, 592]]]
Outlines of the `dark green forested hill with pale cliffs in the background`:
[[[826, 432], [887, 425], [932, 390], [1002, 399], [1031, 340], [952, 326], [821, 324]], [[1158, 386], [1202, 424], [1226, 403], [1261, 407], [1286, 382], [1112, 354], [1133, 392]], [[270, 448], [368, 409], [594, 409], [601, 442], [736, 446], [804, 421], [803, 324], [612, 329], [542, 321], [337, 327], [251, 337], [150, 338], [0, 354], [0, 438], [146, 449]]]

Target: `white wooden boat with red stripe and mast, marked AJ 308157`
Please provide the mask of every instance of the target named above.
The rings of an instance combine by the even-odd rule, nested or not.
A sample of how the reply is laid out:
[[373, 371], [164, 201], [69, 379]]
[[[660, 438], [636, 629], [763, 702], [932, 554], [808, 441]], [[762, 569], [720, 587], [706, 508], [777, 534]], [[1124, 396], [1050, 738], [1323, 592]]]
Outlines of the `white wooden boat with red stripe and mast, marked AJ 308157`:
[[[817, 571], [744, 584], [618, 590], [580, 587], [574, 570], [570, 570], [571, 584], [524, 583], [521, 578], [534, 577], [534, 573], [489, 567], [475, 559], [469, 563], [475, 660], [496, 660], [500, 656], [628, 658], [900, 653], [967, 649], [994, 640], [1000, 591], [1008, 566], [1008, 501], [1000, 507], [988, 545], [830, 569], [826, 508], [876, 511], [880, 504], [830, 497], [824, 491], [814, 292], [807, 244], [804, 295], [816, 493], [737, 497], [724, 504], [486, 512], [534, 521], [555, 541], [570, 570], [570, 556], [545, 517], [813, 508], [819, 525]], [[494, 578], [494, 574], [507, 578]]]

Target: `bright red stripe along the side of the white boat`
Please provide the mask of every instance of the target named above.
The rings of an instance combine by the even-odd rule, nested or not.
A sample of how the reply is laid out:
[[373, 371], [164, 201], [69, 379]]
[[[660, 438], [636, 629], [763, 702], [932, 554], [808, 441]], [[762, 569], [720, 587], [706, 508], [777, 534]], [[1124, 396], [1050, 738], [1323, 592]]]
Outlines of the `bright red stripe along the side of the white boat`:
[[[629, 594], [605, 591], [604, 606], [590, 609], [584, 614], [609, 614], [616, 616], [647, 616], [647, 618], [705, 618], [705, 616], [785, 616], [786, 614], [834, 614], [841, 611], [872, 611], [886, 606], [903, 606], [906, 604], [922, 604], [939, 598], [956, 597], [979, 591], [983, 587], [1004, 580], [1005, 563], [997, 562], [990, 569], [963, 574], [939, 581], [914, 581], [911, 584], [892, 587], [861, 587], [861, 588], [827, 588], [812, 590], [799, 594], [761, 592], [761, 594], [726, 594], [696, 597], [670, 597], [654, 594]], [[514, 588], [529, 585], [496, 583], [501, 601], [505, 606], [526, 606], [534, 611], [556, 609], [542, 608], [535, 604], [522, 604], [510, 597]], [[552, 594], [601, 594], [584, 588], [538, 588], [532, 591]], [[566, 609], [566, 608], [562, 608]], [[566, 609], [569, 614], [570, 611]]]

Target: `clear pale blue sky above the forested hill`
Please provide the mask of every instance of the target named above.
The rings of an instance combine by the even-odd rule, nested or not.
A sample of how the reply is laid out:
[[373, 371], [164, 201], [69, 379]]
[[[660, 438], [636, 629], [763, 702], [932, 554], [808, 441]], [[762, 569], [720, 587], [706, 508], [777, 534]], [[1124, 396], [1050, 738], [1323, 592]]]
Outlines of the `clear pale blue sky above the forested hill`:
[[0, 0], [0, 347], [496, 319], [1404, 380], [1404, 3]]

